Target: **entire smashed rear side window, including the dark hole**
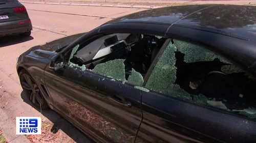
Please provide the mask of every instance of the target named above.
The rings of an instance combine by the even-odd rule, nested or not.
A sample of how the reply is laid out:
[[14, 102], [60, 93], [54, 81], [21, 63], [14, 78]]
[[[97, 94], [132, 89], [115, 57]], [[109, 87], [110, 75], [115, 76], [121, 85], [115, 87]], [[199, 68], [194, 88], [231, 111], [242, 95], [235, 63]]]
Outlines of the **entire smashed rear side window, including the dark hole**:
[[256, 119], [254, 79], [237, 65], [202, 46], [169, 42], [145, 88]]

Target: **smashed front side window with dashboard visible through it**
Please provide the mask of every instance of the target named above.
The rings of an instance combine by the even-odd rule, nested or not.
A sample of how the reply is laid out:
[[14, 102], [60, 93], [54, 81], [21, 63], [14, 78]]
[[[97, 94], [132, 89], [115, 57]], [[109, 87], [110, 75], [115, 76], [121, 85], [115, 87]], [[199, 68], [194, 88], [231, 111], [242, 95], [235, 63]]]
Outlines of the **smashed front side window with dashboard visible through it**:
[[69, 63], [108, 76], [113, 81], [141, 86], [165, 40], [145, 34], [110, 34], [74, 47]]

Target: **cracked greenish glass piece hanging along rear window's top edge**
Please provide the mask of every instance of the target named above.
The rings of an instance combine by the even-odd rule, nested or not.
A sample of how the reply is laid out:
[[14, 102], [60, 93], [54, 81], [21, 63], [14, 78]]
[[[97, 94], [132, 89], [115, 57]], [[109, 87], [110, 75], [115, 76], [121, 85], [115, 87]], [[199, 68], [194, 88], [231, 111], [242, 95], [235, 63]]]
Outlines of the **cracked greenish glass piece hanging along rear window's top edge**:
[[180, 51], [185, 54], [184, 62], [193, 63], [193, 62], [200, 62], [200, 61], [214, 61], [214, 59], [217, 58], [223, 63], [231, 64], [228, 60], [223, 58], [221, 55], [214, 53], [199, 45], [176, 40], [176, 39], [174, 39], [174, 45], [176, 46], [177, 51]]

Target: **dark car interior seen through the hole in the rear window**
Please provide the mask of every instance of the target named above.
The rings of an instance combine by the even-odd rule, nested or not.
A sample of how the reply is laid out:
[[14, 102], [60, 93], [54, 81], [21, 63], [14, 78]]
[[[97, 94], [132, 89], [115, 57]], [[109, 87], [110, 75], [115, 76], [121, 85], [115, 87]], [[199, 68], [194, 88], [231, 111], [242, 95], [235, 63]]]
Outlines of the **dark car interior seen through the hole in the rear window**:
[[228, 109], [244, 109], [255, 106], [255, 81], [245, 72], [227, 73], [223, 66], [230, 64], [213, 61], [187, 63], [184, 53], [177, 51], [176, 81], [183, 90], [193, 95], [205, 95], [207, 98], [222, 101]]

